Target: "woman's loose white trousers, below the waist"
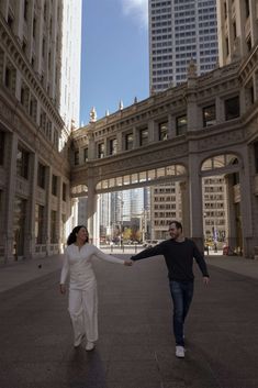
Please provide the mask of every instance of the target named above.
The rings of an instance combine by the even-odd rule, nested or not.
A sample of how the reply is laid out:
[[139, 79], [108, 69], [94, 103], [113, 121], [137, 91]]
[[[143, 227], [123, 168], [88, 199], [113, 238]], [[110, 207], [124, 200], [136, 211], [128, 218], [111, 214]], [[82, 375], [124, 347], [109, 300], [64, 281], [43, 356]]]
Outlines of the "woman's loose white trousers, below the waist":
[[81, 335], [90, 342], [98, 340], [98, 295], [97, 284], [87, 290], [70, 289], [68, 311], [74, 328], [75, 341]]

